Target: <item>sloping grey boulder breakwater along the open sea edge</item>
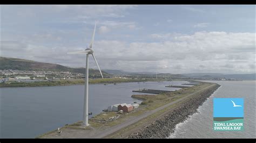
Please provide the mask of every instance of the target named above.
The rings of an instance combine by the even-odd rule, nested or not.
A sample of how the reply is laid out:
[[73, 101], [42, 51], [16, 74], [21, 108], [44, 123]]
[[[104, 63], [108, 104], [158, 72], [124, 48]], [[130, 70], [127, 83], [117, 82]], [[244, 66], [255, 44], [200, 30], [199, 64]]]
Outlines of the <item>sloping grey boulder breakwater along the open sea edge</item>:
[[202, 91], [199, 95], [192, 96], [192, 98], [186, 103], [183, 103], [175, 110], [170, 111], [165, 116], [158, 118], [150, 125], [144, 126], [139, 131], [132, 133], [128, 138], [169, 137], [170, 133], [174, 132], [176, 125], [182, 123], [190, 115], [196, 113], [198, 107], [202, 105], [219, 87], [219, 84], [215, 84], [211, 88]]

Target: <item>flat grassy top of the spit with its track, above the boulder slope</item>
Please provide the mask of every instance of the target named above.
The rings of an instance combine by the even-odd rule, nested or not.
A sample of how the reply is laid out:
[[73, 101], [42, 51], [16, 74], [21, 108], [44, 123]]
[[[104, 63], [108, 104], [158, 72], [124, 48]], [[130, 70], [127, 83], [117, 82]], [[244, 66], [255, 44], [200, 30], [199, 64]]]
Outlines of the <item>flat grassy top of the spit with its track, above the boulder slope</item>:
[[[166, 115], [176, 112], [185, 104], [191, 103], [192, 98], [211, 95], [211, 91], [217, 89], [217, 87], [218, 84], [216, 83], [204, 82], [201, 85], [180, 89], [169, 94], [134, 95], [135, 97], [141, 97], [140, 99], [143, 100], [140, 104], [141, 107], [131, 113], [120, 115], [121, 117], [118, 120], [107, 121], [109, 117], [116, 116], [118, 113], [102, 112], [89, 120], [90, 127], [84, 127], [82, 126], [82, 121], [77, 121], [76, 123], [61, 127], [62, 134], [51, 131], [39, 135], [37, 138], [164, 138], [163, 135], [166, 132], [158, 133], [158, 137], [151, 137], [151, 132], [152, 134], [157, 133], [159, 129], [152, 128], [154, 123], [157, 123], [157, 126], [163, 125], [159, 119], [166, 118]], [[188, 108], [185, 110], [191, 112]], [[186, 115], [186, 113], [181, 114]], [[181, 121], [178, 120], [176, 124]], [[173, 127], [176, 124], [173, 124]], [[145, 132], [145, 128], [150, 128], [152, 131]], [[167, 126], [161, 126], [160, 130], [163, 128], [168, 129]], [[139, 135], [142, 132], [146, 133], [144, 137]], [[170, 132], [167, 131], [167, 134], [170, 135]], [[166, 136], [168, 137], [168, 135]]]

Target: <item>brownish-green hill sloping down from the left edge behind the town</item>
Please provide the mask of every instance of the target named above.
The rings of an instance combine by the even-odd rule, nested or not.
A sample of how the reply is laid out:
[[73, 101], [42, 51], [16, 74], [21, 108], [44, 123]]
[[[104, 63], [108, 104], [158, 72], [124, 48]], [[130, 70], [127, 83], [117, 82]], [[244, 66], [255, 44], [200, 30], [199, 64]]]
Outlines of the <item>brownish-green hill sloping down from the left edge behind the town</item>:
[[[58, 65], [55, 63], [37, 62], [31, 60], [6, 58], [0, 56], [0, 70], [12, 69], [12, 70], [40, 70], [40, 71], [70, 71], [72, 73], [85, 74], [85, 68], [71, 68]], [[90, 74], [100, 74], [97, 69], [89, 69]], [[109, 75], [105, 71], [102, 71], [103, 75]]]

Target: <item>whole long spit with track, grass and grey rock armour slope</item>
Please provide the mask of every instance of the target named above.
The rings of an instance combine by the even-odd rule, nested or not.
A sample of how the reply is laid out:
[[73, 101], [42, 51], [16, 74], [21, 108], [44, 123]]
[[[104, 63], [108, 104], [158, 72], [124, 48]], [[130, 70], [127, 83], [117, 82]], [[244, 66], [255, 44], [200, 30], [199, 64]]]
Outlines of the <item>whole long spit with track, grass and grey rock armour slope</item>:
[[173, 95], [133, 95], [147, 102], [129, 113], [99, 113], [89, 119], [90, 126], [77, 121], [60, 127], [61, 133], [56, 129], [36, 138], [167, 138], [170, 130], [159, 131], [159, 127], [174, 130], [219, 87], [216, 83], [201, 83], [173, 91]]

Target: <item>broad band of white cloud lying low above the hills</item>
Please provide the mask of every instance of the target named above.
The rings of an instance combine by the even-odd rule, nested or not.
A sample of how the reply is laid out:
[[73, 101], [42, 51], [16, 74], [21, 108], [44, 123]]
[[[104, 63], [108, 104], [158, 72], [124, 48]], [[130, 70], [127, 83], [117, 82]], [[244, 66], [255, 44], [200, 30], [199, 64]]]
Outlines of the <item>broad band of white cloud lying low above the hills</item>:
[[[177, 74], [253, 73], [255, 71], [252, 66], [255, 64], [254, 34], [217, 31], [201, 31], [193, 34], [165, 33], [166, 37], [172, 39], [161, 42], [96, 40], [94, 50], [102, 69], [127, 71], [158, 69], [159, 72]], [[166, 37], [157, 38], [161, 40]], [[40, 46], [17, 41], [2, 43], [4, 43], [1, 47], [2, 56], [53, 62], [70, 67], [84, 66], [83, 55], [66, 55], [66, 52], [80, 51], [84, 47]], [[19, 52], [10, 52], [10, 49]], [[242, 51], [242, 49], [246, 50]], [[90, 60], [90, 65], [92, 68], [97, 68], [93, 59]]]

